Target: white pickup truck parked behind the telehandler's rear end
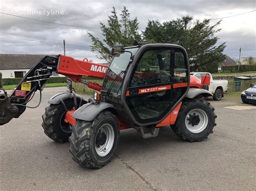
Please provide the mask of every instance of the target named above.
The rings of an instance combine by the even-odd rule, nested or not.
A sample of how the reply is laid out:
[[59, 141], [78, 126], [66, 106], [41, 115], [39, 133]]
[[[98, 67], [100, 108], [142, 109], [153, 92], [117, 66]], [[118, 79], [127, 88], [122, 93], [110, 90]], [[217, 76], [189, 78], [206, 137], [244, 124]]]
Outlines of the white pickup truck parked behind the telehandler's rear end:
[[201, 80], [202, 76], [209, 74], [211, 76], [210, 86], [208, 90], [213, 94], [214, 100], [221, 100], [224, 97], [224, 92], [227, 91], [227, 80], [213, 80], [212, 74], [208, 72], [191, 72], [190, 75], [196, 76]]

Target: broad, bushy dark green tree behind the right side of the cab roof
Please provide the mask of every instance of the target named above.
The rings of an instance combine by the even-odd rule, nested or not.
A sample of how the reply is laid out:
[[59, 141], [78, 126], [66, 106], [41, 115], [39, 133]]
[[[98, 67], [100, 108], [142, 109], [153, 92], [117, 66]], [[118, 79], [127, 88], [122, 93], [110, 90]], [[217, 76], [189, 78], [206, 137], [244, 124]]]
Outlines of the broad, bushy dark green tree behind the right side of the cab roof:
[[210, 25], [210, 19], [193, 20], [185, 16], [161, 24], [158, 20], [149, 20], [144, 39], [149, 43], [179, 44], [186, 48], [191, 71], [217, 72], [218, 65], [226, 56], [223, 54], [226, 43], [216, 45], [218, 37], [215, 29], [220, 21]]

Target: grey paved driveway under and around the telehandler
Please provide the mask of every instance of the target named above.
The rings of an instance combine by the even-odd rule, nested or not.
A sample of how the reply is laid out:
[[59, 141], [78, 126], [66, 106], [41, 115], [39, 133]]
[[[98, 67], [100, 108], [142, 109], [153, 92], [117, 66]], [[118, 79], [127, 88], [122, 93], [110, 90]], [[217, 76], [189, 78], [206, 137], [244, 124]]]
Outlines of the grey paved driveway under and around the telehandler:
[[[65, 88], [45, 88], [37, 109], [0, 126], [0, 189], [80, 190], [253, 190], [255, 189], [256, 106], [242, 104], [239, 95], [208, 99], [218, 115], [209, 138], [187, 143], [169, 127], [156, 138], [143, 139], [130, 129], [120, 133], [113, 160], [101, 169], [79, 167], [69, 143], [46, 137], [41, 116], [47, 101]], [[31, 105], [36, 105], [38, 97]], [[250, 105], [248, 105], [250, 106]]]

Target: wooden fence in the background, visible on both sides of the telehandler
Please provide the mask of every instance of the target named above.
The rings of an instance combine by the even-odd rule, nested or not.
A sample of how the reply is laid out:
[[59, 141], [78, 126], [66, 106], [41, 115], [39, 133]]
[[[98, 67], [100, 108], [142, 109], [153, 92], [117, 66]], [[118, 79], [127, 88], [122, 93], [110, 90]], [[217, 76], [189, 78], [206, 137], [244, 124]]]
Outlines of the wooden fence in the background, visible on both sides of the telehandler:
[[[90, 82], [95, 82], [100, 85], [102, 85], [103, 80], [89, 80]], [[256, 79], [253, 80], [248, 80], [248, 81], [228, 81], [228, 89], [226, 94], [232, 94], [235, 93], [235, 91], [244, 91], [248, 88], [250, 88], [250, 85], [255, 83]], [[76, 83], [72, 82], [73, 88], [75, 88], [76, 93], [79, 94], [87, 94], [87, 95], [92, 95], [95, 90], [91, 88], [87, 88], [85, 84], [82, 83]]]

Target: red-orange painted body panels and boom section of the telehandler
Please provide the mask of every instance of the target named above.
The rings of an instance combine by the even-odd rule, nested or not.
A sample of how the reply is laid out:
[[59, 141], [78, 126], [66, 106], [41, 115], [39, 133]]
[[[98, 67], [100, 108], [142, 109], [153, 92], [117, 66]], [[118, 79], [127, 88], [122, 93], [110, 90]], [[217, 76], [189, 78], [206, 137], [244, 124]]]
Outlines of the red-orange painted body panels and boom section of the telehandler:
[[[68, 56], [60, 56], [60, 63], [59, 63], [59, 74], [65, 74], [68, 77], [71, 77], [74, 81], [80, 81], [80, 77], [82, 76], [94, 76], [98, 78], [103, 78], [105, 76], [105, 71], [107, 66], [99, 65], [96, 63], [88, 62], [88, 61], [80, 61], [75, 60]], [[70, 65], [70, 62], [72, 65]], [[90, 71], [90, 72], [89, 72]], [[76, 75], [74, 75], [76, 74]], [[203, 88], [203, 85], [210, 85], [210, 76], [205, 75], [202, 76], [202, 79], [198, 79], [196, 76], [190, 76], [190, 88]], [[138, 90], [138, 94], [146, 94], [146, 93], [152, 93], [156, 91], [164, 91], [169, 90], [171, 88], [182, 88], [187, 87], [188, 83], [174, 83], [172, 85], [165, 85], [165, 86], [158, 86], [158, 87], [151, 87], [151, 88], [143, 88]], [[89, 83], [89, 88], [100, 90], [102, 87], [99, 84], [96, 83]], [[130, 96], [130, 91], [126, 91], [126, 96]], [[176, 122], [180, 107], [182, 102], [180, 102], [176, 108], [173, 109], [173, 111], [160, 123], [156, 125], [156, 127], [166, 126], [166, 125], [173, 125]], [[76, 119], [72, 117], [73, 113], [75, 112], [75, 108], [71, 111], [68, 111], [66, 113], [65, 122], [69, 123], [71, 125], [76, 124]], [[122, 123], [118, 118], [118, 129], [124, 130], [124, 129], [130, 129], [129, 126], [126, 126], [124, 123]]]

